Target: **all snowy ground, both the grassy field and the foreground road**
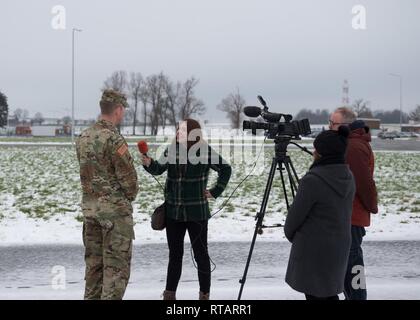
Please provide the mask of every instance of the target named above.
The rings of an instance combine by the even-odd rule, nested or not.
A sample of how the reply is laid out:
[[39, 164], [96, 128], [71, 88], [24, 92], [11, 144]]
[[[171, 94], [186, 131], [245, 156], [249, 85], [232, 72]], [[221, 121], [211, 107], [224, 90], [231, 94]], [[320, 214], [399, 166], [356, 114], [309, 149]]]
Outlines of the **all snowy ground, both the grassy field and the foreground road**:
[[[152, 156], [162, 147], [154, 142], [149, 152]], [[249, 173], [260, 146], [261, 141], [257, 146], [247, 142], [229, 148], [222, 142], [220, 151], [231, 162], [233, 176], [224, 195], [211, 203], [213, 212]], [[217, 264], [212, 275], [212, 299], [237, 298], [272, 149], [272, 145], [265, 145], [251, 176], [209, 222], [209, 252]], [[139, 164], [136, 147], [131, 146], [130, 151], [135, 158], [140, 192], [134, 203], [136, 240], [125, 298], [160, 299], [168, 250], [165, 233], [151, 229], [150, 214], [163, 201], [163, 194]], [[311, 157], [296, 148], [290, 148], [289, 155], [302, 176]], [[380, 212], [372, 217], [364, 239], [368, 296], [420, 299], [420, 152], [376, 151], [375, 157]], [[74, 149], [62, 143], [1, 145], [0, 166], [0, 299], [81, 299], [81, 190]], [[210, 185], [215, 178], [212, 173]], [[163, 183], [165, 175], [159, 180]], [[282, 223], [285, 214], [277, 175], [265, 224]], [[282, 229], [265, 229], [257, 240], [244, 299], [303, 299], [284, 282], [289, 251]], [[188, 243], [184, 259], [178, 298], [196, 299], [197, 276]], [[52, 270], [57, 265], [66, 270], [64, 290], [51, 286]]]

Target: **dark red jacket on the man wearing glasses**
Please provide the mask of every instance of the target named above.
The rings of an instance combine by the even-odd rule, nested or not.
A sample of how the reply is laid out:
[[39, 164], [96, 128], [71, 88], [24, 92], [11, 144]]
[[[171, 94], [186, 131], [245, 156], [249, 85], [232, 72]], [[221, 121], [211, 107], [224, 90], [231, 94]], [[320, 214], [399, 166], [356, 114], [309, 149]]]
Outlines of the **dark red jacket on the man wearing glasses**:
[[378, 199], [373, 180], [374, 156], [369, 142], [370, 133], [364, 128], [350, 133], [346, 162], [356, 182], [356, 195], [353, 202], [352, 225], [368, 227], [370, 214], [378, 212]]

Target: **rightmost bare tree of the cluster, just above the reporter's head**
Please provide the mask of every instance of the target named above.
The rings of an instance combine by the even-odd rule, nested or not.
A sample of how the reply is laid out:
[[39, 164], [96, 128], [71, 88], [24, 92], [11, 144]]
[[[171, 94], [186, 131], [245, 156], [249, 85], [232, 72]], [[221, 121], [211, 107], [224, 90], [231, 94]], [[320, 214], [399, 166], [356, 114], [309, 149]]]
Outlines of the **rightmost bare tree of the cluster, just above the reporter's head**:
[[199, 80], [191, 77], [187, 79], [181, 88], [179, 97], [179, 117], [181, 120], [191, 117], [193, 114], [201, 115], [206, 111], [204, 102], [195, 96], [195, 87]]

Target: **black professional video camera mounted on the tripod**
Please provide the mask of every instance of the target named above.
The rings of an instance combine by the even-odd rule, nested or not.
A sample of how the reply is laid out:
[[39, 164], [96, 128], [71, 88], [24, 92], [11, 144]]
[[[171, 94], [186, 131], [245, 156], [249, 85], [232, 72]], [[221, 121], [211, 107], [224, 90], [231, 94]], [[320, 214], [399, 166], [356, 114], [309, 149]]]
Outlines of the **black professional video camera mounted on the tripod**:
[[[276, 137], [290, 137], [291, 139], [300, 139], [300, 136], [305, 136], [311, 133], [311, 127], [308, 119], [293, 120], [290, 114], [272, 113], [268, 111], [267, 103], [261, 96], [258, 100], [263, 105], [263, 109], [255, 106], [244, 108], [244, 113], [250, 118], [261, 116], [264, 122], [247, 121], [243, 122], [243, 130], [252, 130], [255, 135], [258, 129], [265, 130], [266, 136], [269, 139]], [[281, 121], [281, 119], [284, 121]]]

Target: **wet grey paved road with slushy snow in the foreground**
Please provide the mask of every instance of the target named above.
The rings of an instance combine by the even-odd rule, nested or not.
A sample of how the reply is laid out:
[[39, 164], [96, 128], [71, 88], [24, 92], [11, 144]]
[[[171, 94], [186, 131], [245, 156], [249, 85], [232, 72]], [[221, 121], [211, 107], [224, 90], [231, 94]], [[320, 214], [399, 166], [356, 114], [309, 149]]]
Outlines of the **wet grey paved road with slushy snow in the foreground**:
[[[219, 242], [210, 244], [210, 255], [216, 269], [213, 285], [239, 288], [249, 250], [247, 242]], [[247, 285], [264, 286], [284, 283], [290, 246], [285, 242], [258, 242]], [[365, 242], [365, 260], [368, 282], [415, 283], [411, 296], [420, 299], [420, 241]], [[168, 250], [166, 244], [149, 244], [134, 247], [131, 287], [164, 288]], [[63, 266], [66, 282], [71, 288], [83, 290], [84, 261], [81, 246], [17, 246], [0, 247], [0, 298], [8, 293], [19, 297], [37, 298], [37, 293], [51, 287], [53, 266]], [[189, 245], [186, 245], [181, 284], [196, 286]], [[410, 288], [410, 287], [409, 287]], [[392, 288], [390, 296], [392, 297]], [[52, 292], [52, 291], [51, 291]]]

